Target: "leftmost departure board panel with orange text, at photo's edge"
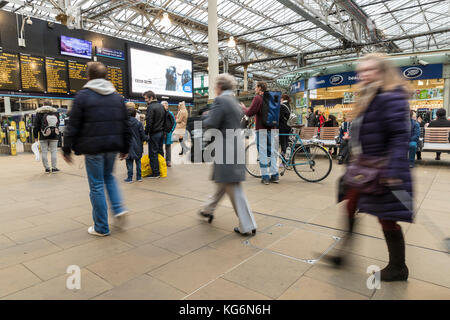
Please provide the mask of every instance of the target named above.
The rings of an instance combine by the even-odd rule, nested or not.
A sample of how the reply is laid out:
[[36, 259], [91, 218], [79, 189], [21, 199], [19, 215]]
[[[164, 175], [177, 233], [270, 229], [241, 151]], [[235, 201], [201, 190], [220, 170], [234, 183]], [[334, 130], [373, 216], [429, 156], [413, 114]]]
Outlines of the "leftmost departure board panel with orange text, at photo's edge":
[[0, 90], [19, 91], [19, 56], [13, 53], [0, 53]]

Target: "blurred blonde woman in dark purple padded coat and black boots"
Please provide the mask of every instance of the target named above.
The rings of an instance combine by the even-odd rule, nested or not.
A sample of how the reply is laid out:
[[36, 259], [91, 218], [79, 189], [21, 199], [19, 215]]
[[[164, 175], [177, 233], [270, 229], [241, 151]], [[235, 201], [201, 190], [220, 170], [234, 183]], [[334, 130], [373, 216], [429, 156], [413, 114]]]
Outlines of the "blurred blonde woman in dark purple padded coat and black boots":
[[[398, 221], [412, 222], [412, 181], [408, 164], [410, 140], [409, 90], [386, 56], [369, 54], [358, 68], [359, 92], [352, 122], [352, 152], [386, 157], [379, 182], [381, 195], [349, 190], [346, 194], [350, 235], [356, 210], [378, 217], [389, 251], [389, 264], [381, 270], [382, 281], [405, 281], [405, 241]], [[406, 192], [405, 192], [406, 191]], [[399, 196], [400, 194], [400, 196]], [[347, 237], [348, 239], [349, 237]], [[335, 257], [336, 264], [343, 257]]]

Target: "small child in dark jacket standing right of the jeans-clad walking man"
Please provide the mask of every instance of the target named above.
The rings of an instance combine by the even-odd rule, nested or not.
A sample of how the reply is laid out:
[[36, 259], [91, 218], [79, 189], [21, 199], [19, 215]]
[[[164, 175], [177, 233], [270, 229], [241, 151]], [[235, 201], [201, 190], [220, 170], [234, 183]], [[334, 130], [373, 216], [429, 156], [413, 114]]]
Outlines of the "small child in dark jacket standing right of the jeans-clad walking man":
[[142, 182], [141, 175], [141, 158], [143, 153], [143, 143], [148, 141], [148, 136], [144, 132], [144, 126], [136, 119], [136, 109], [128, 108], [128, 122], [131, 132], [130, 150], [126, 159], [128, 178], [124, 181], [127, 183], [133, 182], [133, 162], [136, 162], [136, 181]]

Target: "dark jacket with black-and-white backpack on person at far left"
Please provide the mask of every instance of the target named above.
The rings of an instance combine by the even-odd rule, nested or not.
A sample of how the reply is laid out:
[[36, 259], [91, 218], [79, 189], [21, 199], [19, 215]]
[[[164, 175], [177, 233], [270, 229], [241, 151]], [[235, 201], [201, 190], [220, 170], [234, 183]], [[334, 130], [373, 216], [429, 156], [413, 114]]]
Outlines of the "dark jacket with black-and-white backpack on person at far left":
[[59, 113], [50, 106], [43, 106], [36, 110], [33, 128], [34, 138], [39, 140], [58, 140]]

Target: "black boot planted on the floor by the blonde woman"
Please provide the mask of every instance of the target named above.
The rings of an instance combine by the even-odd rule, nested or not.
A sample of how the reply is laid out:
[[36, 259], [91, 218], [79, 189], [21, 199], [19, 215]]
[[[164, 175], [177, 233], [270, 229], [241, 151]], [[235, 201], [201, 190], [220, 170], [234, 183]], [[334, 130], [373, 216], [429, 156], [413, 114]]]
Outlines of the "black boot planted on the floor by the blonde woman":
[[389, 263], [381, 270], [381, 281], [406, 281], [409, 271], [405, 264], [405, 239], [402, 230], [385, 231]]

